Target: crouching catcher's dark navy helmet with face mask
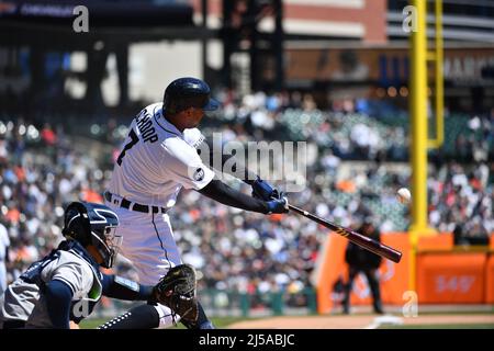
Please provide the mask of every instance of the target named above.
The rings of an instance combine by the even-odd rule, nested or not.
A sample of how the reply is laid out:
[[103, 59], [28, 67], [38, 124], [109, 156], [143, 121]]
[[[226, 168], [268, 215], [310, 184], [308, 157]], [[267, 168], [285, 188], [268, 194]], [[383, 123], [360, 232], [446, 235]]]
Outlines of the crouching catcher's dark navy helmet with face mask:
[[65, 211], [65, 237], [79, 241], [83, 247], [92, 245], [101, 254], [104, 268], [113, 265], [122, 244], [122, 237], [115, 235], [119, 217], [109, 207], [94, 203], [72, 202]]

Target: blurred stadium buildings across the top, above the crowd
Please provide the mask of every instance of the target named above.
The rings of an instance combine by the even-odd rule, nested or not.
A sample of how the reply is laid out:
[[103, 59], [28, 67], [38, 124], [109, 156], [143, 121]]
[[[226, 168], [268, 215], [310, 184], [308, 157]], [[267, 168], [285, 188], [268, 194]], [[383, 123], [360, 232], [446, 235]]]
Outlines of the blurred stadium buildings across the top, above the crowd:
[[[57, 3], [74, 7], [76, 2]], [[60, 11], [40, 16], [33, 13], [42, 10], [40, 5], [26, 11], [19, 8], [22, 1], [1, 1], [0, 95], [29, 92], [36, 95], [30, 98], [33, 103], [56, 95], [69, 109], [79, 101], [80, 110], [94, 105], [98, 111], [121, 110], [133, 102], [159, 101], [162, 87], [177, 76], [190, 75], [239, 94], [312, 92], [323, 107], [348, 97], [390, 99], [406, 106], [409, 60], [403, 9], [407, 1], [139, 0], [125, 4], [131, 2], [135, 4], [86, 2], [90, 31], [77, 34], [71, 19], [56, 19]], [[433, 8], [434, 1], [428, 3]], [[442, 3], [446, 106], [483, 111], [494, 104], [494, 4]], [[433, 15], [428, 23], [433, 38]], [[32, 35], [33, 30], [40, 37]], [[40, 42], [44, 44], [35, 44]]]

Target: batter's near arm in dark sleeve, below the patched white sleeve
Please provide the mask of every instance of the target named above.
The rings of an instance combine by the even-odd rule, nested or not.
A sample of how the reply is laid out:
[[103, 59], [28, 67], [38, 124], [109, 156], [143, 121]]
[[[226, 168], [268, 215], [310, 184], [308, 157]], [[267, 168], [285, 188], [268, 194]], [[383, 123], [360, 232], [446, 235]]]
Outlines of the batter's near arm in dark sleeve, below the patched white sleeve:
[[224, 205], [233, 206], [246, 211], [267, 214], [270, 212], [268, 204], [259, 199], [248, 196], [228, 185], [221, 180], [213, 179], [199, 192]]

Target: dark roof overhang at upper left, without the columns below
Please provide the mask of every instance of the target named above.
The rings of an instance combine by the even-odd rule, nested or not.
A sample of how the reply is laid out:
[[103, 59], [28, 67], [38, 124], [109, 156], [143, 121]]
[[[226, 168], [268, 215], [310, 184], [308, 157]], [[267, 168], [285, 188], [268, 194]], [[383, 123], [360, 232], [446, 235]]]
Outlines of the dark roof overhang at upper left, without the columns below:
[[94, 41], [119, 43], [198, 41], [217, 36], [193, 22], [188, 3], [145, 0], [86, 0], [89, 32], [76, 33], [79, 0], [0, 2], [0, 41], [4, 45], [43, 43], [46, 48], [80, 49]]

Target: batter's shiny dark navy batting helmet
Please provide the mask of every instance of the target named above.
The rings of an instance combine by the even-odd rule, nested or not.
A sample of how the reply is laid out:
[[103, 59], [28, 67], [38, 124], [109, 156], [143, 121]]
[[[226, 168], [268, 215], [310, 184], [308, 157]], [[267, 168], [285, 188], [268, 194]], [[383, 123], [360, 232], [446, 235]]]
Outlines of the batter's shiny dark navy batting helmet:
[[214, 111], [220, 103], [211, 99], [207, 83], [198, 78], [183, 77], [173, 80], [165, 90], [162, 106], [168, 113], [178, 113], [189, 107]]

